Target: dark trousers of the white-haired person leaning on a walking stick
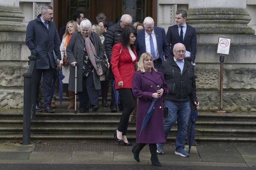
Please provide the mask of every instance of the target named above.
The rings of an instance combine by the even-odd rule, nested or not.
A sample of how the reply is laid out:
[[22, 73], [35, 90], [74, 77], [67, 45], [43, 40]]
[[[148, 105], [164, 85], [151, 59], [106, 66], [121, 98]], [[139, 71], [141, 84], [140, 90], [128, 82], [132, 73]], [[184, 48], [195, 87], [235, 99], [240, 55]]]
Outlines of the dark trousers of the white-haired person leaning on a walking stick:
[[89, 111], [89, 105], [99, 107], [99, 90], [95, 89], [93, 82], [93, 73], [88, 77], [82, 78], [82, 92], [78, 92], [79, 110]]

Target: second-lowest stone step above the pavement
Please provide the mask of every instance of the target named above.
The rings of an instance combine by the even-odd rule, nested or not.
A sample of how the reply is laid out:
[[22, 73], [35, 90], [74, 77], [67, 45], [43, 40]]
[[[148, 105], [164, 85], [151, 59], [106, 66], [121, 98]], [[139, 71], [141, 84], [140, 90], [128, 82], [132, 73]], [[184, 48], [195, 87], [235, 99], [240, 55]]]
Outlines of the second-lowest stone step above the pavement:
[[[31, 127], [31, 134], [94, 134], [111, 135], [116, 127]], [[127, 135], [135, 135], [136, 128], [129, 127]], [[22, 127], [0, 127], [1, 134], [22, 134]], [[170, 135], [176, 136], [177, 127], [171, 129]], [[214, 129], [196, 128], [196, 136], [241, 136], [256, 137], [256, 130], [251, 129]]]

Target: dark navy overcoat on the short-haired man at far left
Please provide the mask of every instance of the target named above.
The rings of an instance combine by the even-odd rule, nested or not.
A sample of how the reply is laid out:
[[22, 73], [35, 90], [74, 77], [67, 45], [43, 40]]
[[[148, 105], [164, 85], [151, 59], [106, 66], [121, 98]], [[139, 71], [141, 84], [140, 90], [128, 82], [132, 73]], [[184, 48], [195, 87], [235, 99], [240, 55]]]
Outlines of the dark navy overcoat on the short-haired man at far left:
[[[26, 27], [26, 45], [31, 51], [31, 55], [35, 55], [36, 69], [49, 69], [50, 65], [55, 68], [53, 50], [59, 60], [61, 60], [60, 44], [58, 31], [55, 23], [48, 22], [49, 30], [41, 21], [41, 14], [37, 19], [29, 22]], [[50, 62], [49, 62], [50, 61]]]

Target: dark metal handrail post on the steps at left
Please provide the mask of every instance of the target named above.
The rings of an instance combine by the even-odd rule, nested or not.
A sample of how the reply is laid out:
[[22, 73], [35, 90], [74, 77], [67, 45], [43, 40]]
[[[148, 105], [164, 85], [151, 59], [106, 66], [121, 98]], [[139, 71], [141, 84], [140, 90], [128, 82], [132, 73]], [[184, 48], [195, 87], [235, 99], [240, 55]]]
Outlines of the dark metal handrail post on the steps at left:
[[24, 77], [23, 100], [23, 141], [22, 144], [30, 144], [30, 124], [35, 119], [35, 86], [36, 86], [36, 57], [29, 56], [29, 69]]

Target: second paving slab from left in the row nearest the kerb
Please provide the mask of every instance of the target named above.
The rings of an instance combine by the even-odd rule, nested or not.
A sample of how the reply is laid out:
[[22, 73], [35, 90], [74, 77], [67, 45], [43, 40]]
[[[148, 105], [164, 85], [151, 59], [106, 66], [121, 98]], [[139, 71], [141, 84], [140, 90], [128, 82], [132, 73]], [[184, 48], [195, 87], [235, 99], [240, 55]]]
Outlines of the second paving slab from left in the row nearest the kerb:
[[30, 160], [71, 160], [72, 152], [32, 152]]

